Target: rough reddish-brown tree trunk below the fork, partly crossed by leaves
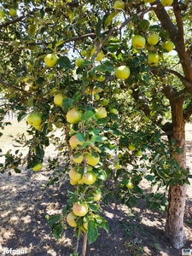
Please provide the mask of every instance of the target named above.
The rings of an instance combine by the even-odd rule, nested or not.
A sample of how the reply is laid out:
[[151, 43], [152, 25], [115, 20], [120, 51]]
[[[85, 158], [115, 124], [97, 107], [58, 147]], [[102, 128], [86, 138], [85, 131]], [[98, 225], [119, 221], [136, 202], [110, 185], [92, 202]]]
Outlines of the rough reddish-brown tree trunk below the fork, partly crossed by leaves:
[[[176, 104], [177, 105], [177, 104]], [[176, 147], [183, 148], [182, 154], [173, 153], [171, 157], [177, 160], [181, 168], [186, 168], [186, 148], [185, 148], [185, 124], [183, 122], [182, 108], [179, 106], [172, 108], [172, 139], [176, 142]], [[181, 107], [181, 106], [180, 106]], [[177, 111], [179, 109], [179, 111]], [[168, 210], [166, 214], [166, 237], [175, 248], [183, 247], [186, 236], [183, 230], [183, 215], [186, 199], [187, 186], [184, 184], [171, 185], [168, 192]]]

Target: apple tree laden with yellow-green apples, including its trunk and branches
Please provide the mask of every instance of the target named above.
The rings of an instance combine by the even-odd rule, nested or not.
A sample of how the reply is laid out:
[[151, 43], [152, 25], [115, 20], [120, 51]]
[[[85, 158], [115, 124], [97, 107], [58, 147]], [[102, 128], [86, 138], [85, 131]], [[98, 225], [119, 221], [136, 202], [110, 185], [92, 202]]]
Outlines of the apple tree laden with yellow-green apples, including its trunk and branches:
[[66, 222], [78, 237], [84, 233], [84, 255], [86, 239], [95, 241], [98, 228], [108, 231], [102, 199], [136, 205], [145, 178], [164, 188], [147, 195], [148, 207], [166, 209], [166, 236], [183, 247], [191, 3], [26, 0], [0, 7], [0, 89], [7, 99], [0, 124], [6, 129], [3, 117], [12, 110], [26, 119], [30, 136], [26, 156], [3, 153], [1, 172], [41, 170], [53, 143], [58, 155], [47, 167], [60, 172], [49, 184], [64, 175], [72, 191], [62, 214], [47, 218], [56, 238]]

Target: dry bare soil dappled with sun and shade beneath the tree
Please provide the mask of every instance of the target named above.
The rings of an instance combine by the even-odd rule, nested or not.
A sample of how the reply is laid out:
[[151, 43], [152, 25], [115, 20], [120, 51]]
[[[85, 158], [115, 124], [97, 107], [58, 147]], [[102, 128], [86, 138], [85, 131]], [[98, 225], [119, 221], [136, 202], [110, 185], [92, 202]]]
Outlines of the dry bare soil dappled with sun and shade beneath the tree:
[[[192, 125], [187, 125], [186, 135], [187, 164], [192, 172]], [[6, 148], [10, 146], [9, 140], [6, 145], [1, 140], [0, 143]], [[48, 178], [47, 170], [0, 175], [0, 255], [5, 248], [26, 250], [26, 255], [32, 256], [69, 256], [75, 250], [77, 239], [73, 236], [73, 228], [68, 228], [56, 241], [45, 219], [46, 214], [61, 212], [70, 185], [63, 180], [61, 185], [42, 189]], [[143, 186], [149, 189], [148, 183], [143, 183]], [[166, 214], [146, 210], [144, 201], [140, 201], [132, 212], [112, 201], [109, 206], [102, 206], [102, 216], [108, 220], [109, 234], [99, 230], [98, 239], [87, 247], [87, 256], [182, 255], [182, 250], [172, 248], [164, 236]], [[185, 248], [192, 249], [191, 185], [188, 188], [184, 225], [188, 238]], [[79, 254], [81, 244], [82, 240], [79, 241]]]

